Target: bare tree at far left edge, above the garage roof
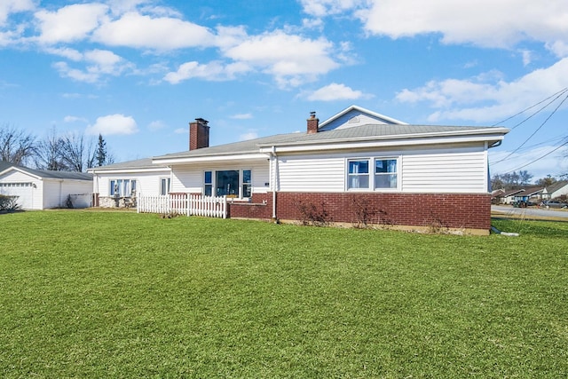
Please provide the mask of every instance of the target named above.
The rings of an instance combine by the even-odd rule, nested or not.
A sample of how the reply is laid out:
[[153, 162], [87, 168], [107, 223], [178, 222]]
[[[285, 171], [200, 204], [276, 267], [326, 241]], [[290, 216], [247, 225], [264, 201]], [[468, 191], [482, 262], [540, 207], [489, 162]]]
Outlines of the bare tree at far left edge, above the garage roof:
[[36, 153], [36, 138], [8, 124], [0, 125], [0, 160], [25, 164]]

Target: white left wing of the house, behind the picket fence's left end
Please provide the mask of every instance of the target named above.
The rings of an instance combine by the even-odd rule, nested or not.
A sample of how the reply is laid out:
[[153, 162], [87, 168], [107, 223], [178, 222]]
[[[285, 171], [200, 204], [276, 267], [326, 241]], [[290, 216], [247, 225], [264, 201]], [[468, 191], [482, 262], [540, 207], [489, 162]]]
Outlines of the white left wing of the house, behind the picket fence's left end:
[[124, 207], [134, 204], [137, 193], [170, 193], [171, 170], [152, 163], [152, 158], [110, 164], [87, 170], [93, 174], [94, 207]]

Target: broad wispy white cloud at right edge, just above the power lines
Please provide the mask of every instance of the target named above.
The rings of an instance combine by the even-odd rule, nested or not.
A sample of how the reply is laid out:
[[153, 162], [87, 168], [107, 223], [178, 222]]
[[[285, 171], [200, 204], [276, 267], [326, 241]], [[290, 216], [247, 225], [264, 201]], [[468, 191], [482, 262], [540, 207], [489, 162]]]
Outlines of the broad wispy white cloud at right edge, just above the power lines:
[[427, 102], [438, 109], [429, 120], [495, 121], [515, 114], [568, 87], [568, 58], [534, 70], [512, 82], [499, 73], [487, 73], [470, 79], [431, 81], [421, 88], [403, 90], [397, 99], [403, 103]]

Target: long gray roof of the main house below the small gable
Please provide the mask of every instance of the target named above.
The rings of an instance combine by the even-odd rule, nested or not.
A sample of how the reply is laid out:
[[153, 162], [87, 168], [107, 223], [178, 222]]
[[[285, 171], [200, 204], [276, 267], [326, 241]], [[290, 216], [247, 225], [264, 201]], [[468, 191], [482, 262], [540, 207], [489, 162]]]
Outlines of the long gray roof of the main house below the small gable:
[[353, 128], [319, 131], [308, 134], [296, 132], [289, 134], [277, 134], [274, 136], [249, 139], [247, 141], [233, 142], [230, 144], [203, 147], [201, 149], [184, 151], [173, 154], [165, 154], [154, 159], [170, 159], [185, 157], [200, 157], [228, 154], [254, 154], [260, 147], [267, 146], [292, 146], [324, 144], [342, 141], [377, 140], [390, 138], [424, 138], [429, 136], [447, 136], [456, 133], [493, 133], [503, 132], [501, 127], [479, 126], [438, 126], [438, 125], [406, 125], [406, 124], [367, 124]]

